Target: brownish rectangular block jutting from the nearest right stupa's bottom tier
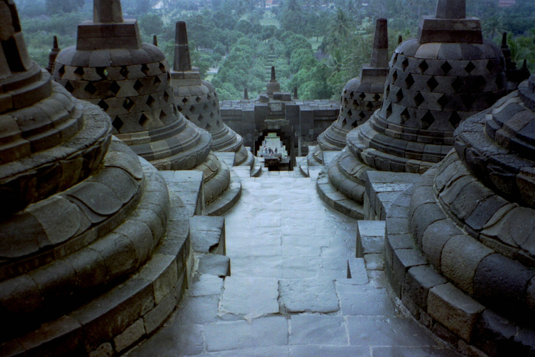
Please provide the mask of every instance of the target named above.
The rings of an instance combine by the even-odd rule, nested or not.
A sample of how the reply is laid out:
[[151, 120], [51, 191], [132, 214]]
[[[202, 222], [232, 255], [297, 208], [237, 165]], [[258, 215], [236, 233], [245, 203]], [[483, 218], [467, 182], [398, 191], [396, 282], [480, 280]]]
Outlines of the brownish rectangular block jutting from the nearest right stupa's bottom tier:
[[431, 288], [427, 305], [433, 319], [465, 341], [471, 340], [474, 326], [485, 309], [451, 283]]

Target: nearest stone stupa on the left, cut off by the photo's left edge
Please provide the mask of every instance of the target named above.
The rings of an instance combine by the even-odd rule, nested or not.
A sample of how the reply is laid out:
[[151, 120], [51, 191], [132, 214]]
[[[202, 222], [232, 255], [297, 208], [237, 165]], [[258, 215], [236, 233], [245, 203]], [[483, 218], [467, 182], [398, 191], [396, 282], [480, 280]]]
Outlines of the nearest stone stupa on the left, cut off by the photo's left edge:
[[29, 59], [13, 0], [0, 19], [0, 355], [119, 354], [185, 291], [184, 204]]

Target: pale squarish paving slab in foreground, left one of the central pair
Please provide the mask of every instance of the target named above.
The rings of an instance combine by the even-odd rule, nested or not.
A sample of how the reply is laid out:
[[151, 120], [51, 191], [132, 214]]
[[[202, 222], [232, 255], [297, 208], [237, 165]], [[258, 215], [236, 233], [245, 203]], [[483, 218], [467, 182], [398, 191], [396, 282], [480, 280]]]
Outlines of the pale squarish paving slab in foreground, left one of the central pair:
[[261, 317], [279, 312], [277, 279], [230, 276], [225, 278], [219, 314]]

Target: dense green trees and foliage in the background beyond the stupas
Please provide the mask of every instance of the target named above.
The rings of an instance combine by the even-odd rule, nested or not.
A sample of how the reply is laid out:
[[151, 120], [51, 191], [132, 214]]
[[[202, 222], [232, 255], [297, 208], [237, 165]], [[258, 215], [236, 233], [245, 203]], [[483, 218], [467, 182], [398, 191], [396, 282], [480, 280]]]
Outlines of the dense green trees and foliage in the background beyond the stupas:
[[[33, 59], [46, 65], [52, 36], [61, 47], [75, 44], [76, 26], [91, 18], [91, 0], [17, 0], [26, 43]], [[296, 86], [300, 98], [337, 98], [343, 85], [369, 62], [375, 20], [389, 19], [389, 46], [398, 36], [416, 35], [421, 15], [432, 15], [436, 0], [122, 0], [125, 17], [139, 20], [146, 42], [158, 36], [173, 63], [174, 31], [187, 22], [194, 66], [222, 99], [249, 98], [265, 90], [270, 66], [284, 91]], [[527, 59], [535, 71], [535, 1], [467, 0], [467, 13], [481, 18], [484, 36], [499, 43], [509, 32], [513, 60]]]

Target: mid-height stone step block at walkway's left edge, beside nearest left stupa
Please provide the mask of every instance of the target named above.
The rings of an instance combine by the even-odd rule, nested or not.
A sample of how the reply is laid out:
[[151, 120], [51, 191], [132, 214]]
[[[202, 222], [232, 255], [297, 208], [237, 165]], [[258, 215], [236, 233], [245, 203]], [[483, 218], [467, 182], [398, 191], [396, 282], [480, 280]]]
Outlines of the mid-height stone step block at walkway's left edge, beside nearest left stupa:
[[223, 217], [194, 215], [189, 218], [189, 238], [196, 253], [226, 255]]

